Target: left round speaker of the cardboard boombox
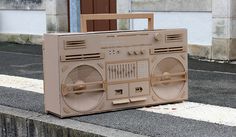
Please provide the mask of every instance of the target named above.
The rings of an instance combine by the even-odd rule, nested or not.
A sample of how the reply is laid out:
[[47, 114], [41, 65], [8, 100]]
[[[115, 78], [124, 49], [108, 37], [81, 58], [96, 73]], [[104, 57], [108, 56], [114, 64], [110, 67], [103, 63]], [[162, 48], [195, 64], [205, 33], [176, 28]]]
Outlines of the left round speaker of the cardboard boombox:
[[[74, 85], [73, 92], [64, 96], [65, 103], [75, 111], [90, 111], [98, 106], [104, 91], [101, 74], [92, 66], [81, 65], [74, 68], [66, 77], [65, 85]], [[90, 84], [88, 84], [90, 83]]]

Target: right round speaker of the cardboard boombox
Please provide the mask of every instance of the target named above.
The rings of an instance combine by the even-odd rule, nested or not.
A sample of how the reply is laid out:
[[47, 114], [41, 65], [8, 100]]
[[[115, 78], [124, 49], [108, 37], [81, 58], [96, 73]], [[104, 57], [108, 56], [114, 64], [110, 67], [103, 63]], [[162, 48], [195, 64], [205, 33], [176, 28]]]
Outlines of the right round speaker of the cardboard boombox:
[[154, 67], [151, 79], [155, 94], [164, 100], [173, 100], [182, 92], [185, 84], [183, 64], [173, 57], [166, 57]]

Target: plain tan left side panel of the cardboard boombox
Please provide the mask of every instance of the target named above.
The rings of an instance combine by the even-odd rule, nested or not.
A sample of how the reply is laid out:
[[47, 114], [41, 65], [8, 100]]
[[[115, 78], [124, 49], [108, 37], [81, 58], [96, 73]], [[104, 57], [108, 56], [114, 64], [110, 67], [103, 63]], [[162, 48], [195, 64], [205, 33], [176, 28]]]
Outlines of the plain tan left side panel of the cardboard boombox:
[[44, 35], [43, 71], [45, 111], [60, 115], [58, 36]]

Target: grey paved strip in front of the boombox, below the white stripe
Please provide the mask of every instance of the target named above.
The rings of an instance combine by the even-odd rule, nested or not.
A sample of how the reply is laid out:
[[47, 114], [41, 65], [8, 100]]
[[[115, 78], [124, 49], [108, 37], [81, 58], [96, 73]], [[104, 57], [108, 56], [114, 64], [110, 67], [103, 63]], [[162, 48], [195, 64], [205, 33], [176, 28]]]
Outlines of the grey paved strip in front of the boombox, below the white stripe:
[[235, 136], [236, 127], [211, 124], [147, 111], [127, 110], [83, 116], [79, 121], [160, 137]]

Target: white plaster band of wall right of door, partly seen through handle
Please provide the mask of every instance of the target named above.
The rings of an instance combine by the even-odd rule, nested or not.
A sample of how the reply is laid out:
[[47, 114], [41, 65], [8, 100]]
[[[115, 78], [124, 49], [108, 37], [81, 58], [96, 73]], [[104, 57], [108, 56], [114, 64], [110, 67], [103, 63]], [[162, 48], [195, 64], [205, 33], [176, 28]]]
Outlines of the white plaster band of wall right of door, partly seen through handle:
[[[212, 44], [211, 12], [155, 12], [155, 29], [187, 28], [188, 43]], [[147, 20], [135, 19], [131, 23], [135, 30], [146, 29]]]

